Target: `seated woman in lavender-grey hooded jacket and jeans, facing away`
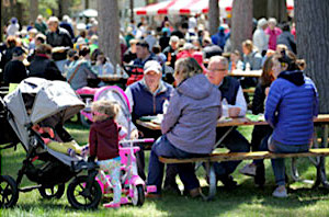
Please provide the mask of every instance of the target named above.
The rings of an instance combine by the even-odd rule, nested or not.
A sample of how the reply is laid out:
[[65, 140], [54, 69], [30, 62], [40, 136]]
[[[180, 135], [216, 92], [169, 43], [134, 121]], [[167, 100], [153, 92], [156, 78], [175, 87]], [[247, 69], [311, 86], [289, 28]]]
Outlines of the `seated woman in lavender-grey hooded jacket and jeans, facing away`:
[[[148, 185], [157, 192], [149, 197], [159, 197], [163, 176], [163, 163], [159, 156], [193, 158], [208, 155], [216, 138], [216, 124], [220, 116], [220, 92], [203, 75], [193, 58], [175, 62], [177, 89], [170, 99], [161, 123], [162, 136], [154, 144], [148, 169]], [[179, 164], [180, 178], [192, 197], [201, 194], [200, 183], [192, 163]]]

